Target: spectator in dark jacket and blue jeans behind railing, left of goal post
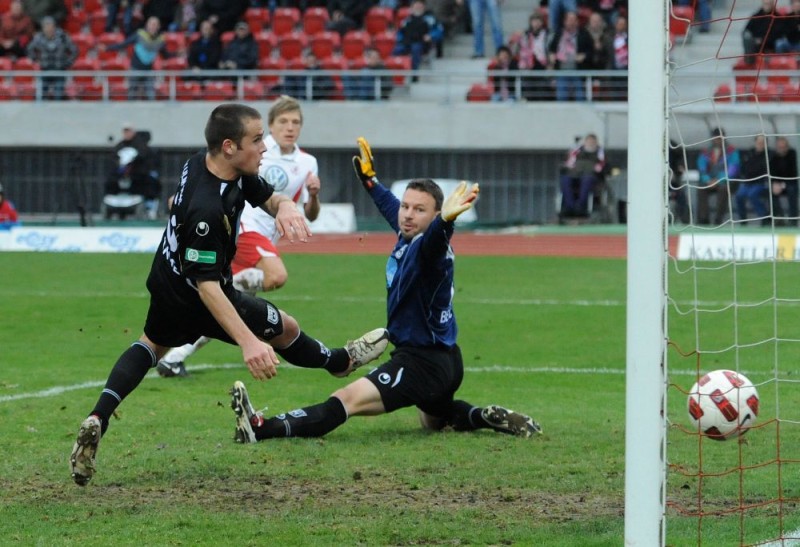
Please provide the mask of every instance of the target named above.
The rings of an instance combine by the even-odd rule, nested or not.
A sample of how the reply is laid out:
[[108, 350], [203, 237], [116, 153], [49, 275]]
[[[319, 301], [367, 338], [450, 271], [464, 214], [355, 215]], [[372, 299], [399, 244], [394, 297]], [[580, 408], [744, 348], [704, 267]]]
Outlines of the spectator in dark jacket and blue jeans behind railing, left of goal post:
[[[550, 41], [550, 65], [558, 70], [581, 70], [587, 66], [592, 51], [592, 38], [580, 27], [578, 14], [568, 11], [564, 26]], [[556, 100], [586, 100], [586, 82], [580, 76], [556, 77]]]

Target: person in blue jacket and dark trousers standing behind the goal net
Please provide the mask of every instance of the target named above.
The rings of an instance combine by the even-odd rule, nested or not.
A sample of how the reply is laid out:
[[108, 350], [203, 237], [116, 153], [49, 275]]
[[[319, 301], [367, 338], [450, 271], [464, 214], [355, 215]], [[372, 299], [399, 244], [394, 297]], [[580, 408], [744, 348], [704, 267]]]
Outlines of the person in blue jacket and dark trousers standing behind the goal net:
[[730, 179], [739, 176], [741, 160], [739, 151], [725, 143], [725, 132], [716, 128], [711, 132], [711, 144], [697, 158], [700, 174], [697, 188], [697, 222], [709, 223], [709, 198], [716, 196], [715, 224], [722, 224], [730, 215]]

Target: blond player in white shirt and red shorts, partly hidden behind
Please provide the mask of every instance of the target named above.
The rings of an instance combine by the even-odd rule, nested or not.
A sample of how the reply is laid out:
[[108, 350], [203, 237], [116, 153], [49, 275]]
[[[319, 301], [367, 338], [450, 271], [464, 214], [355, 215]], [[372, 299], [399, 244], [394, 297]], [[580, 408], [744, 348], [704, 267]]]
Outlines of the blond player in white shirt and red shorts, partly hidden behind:
[[[270, 108], [267, 122], [267, 150], [258, 173], [275, 187], [276, 193], [302, 205], [309, 221], [316, 220], [320, 210], [319, 172], [317, 158], [297, 144], [303, 128], [300, 103], [286, 95], [280, 97]], [[231, 263], [237, 289], [255, 294], [279, 289], [286, 283], [286, 266], [276, 247], [279, 238], [275, 219], [247, 204], [239, 221], [236, 255]], [[194, 344], [173, 348], [159, 361], [158, 373], [164, 377], [186, 376], [184, 361], [208, 341], [203, 336]]]

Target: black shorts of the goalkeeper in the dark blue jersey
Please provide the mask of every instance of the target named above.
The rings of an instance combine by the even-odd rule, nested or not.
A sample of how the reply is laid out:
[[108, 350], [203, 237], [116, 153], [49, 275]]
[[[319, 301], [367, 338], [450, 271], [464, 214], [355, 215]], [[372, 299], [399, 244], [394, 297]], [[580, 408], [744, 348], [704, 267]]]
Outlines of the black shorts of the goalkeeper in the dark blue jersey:
[[386, 412], [416, 406], [431, 416], [444, 417], [464, 379], [464, 362], [458, 346], [401, 347], [365, 378], [378, 388]]

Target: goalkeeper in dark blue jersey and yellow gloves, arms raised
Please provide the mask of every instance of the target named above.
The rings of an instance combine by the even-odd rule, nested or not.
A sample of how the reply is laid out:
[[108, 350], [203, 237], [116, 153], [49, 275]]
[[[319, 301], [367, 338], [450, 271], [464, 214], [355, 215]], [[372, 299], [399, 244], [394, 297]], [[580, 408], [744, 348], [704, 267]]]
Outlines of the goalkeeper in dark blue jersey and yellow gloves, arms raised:
[[337, 390], [328, 400], [265, 418], [256, 412], [247, 389], [236, 382], [231, 406], [237, 442], [275, 437], [321, 437], [351, 416], [373, 416], [416, 406], [422, 426], [459, 431], [489, 428], [530, 437], [541, 432], [530, 417], [490, 405], [456, 400], [464, 366], [456, 343], [453, 313], [453, 223], [478, 197], [478, 185], [462, 182], [444, 199], [430, 179], [414, 179], [398, 200], [382, 186], [367, 141], [358, 139], [353, 158], [358, 178], [386, 221], [398, 234], [386, 264], [390, 359], [368, 375]]

